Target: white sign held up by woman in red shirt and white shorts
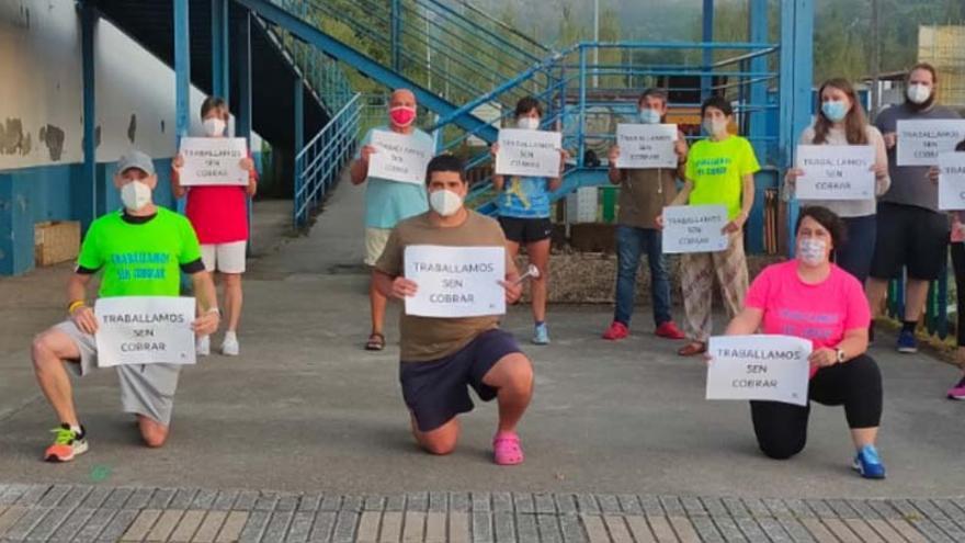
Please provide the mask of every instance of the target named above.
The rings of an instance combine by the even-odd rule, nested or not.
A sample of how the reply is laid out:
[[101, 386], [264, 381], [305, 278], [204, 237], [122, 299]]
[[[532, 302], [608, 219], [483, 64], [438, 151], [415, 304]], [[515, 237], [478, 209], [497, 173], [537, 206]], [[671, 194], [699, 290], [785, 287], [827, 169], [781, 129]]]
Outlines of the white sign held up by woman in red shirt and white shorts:
[[184, 166], [179, 176], [184, 186], [248, 185], [248, 170], [241, 168], [248, 157], [243, 137], [183, 137], [181, 156]]

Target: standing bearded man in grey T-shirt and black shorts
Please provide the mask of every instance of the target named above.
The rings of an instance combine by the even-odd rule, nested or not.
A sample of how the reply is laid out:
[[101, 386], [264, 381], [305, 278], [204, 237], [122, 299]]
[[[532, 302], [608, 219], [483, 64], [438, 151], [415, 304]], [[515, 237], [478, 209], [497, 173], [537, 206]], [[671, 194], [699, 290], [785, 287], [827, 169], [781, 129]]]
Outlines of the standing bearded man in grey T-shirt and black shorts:
[[867, 297], [873, 312], [881, 309], [888, 280], [908, 270], [905, 318], [898, 336], [899, 352], [917, 352], [915, 327], [928, 296], [929, 282], [944, 269], [949, 247], [949, 222], [938, 208], [938, 186], [927, 166], [898, 166], [898, 121], [961, 118], [958, 113], [936, 104], [935, 69], [928, 64], [911, 68], [905, 80], [905, 103], [884, 110], [875, 125], [888, 148], [892, 186], [878, 202], [877, 241], [867, 280]]

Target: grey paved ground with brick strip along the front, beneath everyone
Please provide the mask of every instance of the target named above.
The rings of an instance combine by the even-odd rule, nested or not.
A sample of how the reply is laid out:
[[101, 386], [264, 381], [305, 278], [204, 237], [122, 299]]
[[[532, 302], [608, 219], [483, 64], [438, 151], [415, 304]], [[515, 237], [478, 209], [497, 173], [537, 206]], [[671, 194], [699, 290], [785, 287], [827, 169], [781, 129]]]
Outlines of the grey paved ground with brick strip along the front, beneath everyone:
[[[242, 354], [185, 370], [160, 450], [139, 444], [116, 377], [99, 372], [75, 391], [90, 452], [39, 461], [56, 420], [30, 338], [63, 318], [70, 269], [0, 280], [0, 538], [420, 541], [445, 527], [453, 541], [965, 541], [965, 504], [949, 499], [965, 488], [965, 404], [943, 398], [957, 371], [898, 355], [887, 338], [872, 350], [885, 380], [884, 482], [850, 471], [840, 408], [813, 409], [801, 455], [762, 457], [747, 405], [705, 401], [703, 363], [654, 338], [647, 308], [621, 342], [599, 339], [610, 307], [550, 308], [553, 344], [524, 344], [537, 375], [524, 465], [492, 465], [491, 404], [464, 418], [453, 455], [421, 453], [397, 382], [395, 317], [385, 352], [361, 349], [361, 202], [344, 184], [310, 237], [257, 252]], [[256, 214], [286, 222], [275, 207]], [[504, 325], [529, 338], [525, 308]]]

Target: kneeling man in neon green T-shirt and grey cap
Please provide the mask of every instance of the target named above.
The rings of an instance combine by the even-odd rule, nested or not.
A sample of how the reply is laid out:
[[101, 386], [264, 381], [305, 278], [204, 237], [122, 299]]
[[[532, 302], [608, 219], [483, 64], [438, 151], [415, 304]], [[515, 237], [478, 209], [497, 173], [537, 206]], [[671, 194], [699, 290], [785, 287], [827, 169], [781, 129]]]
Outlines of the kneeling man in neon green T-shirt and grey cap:
[[[201, 317], [192, 323], [192, 329], [207, 335], [218, 327], [214, 283], [204, 270], [197, 236], [186, 218], [154, 204], [151, 191], [157, 183], [147, 155], [130, 150], [121, 158], [114, 186], [121, 191], [124, 210], [91, 224], [67, 284], [69, 318], [34, 340], [37, 383], [60, 419], [44, 460], [69, 462], [88, 450], [66, 369], [83, 376], [98, 367], [94, 333], [99, 323], [86, 302], [94, 274], [102, 272], [101, 297], [178, 296], [183, 271], [191, 275], [200, 306]], [[137, 416], [147, 446], [161, 446], [168, 439], [180, 367], [167, 363], [117, 366], [121, 401], [125, 411]]]

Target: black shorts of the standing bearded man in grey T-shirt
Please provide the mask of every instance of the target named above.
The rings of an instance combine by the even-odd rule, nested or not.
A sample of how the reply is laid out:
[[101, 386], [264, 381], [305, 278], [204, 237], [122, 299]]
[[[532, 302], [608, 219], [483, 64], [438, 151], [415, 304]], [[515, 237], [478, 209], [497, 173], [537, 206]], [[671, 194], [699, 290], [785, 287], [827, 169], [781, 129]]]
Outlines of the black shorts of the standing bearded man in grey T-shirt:
[[901, 268], [908, 278], [939, 279], [947, 260], [949, 218], [915, 205], [878, 204], [877, 240], [871, 261], [871, 276], [898, 279]]

